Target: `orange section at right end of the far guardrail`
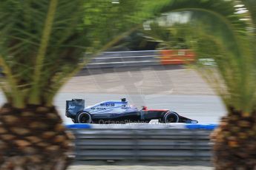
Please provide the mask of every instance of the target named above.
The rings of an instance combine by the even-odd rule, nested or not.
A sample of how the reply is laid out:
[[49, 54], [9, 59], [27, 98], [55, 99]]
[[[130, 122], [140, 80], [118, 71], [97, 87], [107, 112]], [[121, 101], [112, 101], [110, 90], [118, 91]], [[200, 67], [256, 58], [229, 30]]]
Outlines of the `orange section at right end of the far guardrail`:
[[190, 64], [195, 61], [193, 50], [161, 50], [160, 54], [162, 65]]

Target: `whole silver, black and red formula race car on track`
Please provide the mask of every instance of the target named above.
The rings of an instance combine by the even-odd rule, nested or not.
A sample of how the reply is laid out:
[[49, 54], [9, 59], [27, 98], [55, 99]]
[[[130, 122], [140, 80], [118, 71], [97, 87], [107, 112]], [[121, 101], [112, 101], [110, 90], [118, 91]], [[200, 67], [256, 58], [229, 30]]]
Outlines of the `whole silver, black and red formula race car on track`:
[[167, 109], [137, 109], [129, 106], [128, 101], [102, 101], [93, 106], [85, 107], [85, 100], [72, 99], [66, 101], [66, 116], [73, 123], [148, 123], [158, 119], [160, 123], [198, 123], [197, 120], [180, 116], [177, 112]]

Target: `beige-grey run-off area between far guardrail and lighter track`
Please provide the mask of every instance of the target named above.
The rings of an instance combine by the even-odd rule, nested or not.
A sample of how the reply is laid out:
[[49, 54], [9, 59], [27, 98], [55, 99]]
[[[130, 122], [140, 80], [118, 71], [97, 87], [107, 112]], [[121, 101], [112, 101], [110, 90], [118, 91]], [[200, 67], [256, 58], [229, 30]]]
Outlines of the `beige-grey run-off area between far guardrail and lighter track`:
[[183, 67], [89, 69], [68, 81], [62, 92], [215, 95], [194, 69]]

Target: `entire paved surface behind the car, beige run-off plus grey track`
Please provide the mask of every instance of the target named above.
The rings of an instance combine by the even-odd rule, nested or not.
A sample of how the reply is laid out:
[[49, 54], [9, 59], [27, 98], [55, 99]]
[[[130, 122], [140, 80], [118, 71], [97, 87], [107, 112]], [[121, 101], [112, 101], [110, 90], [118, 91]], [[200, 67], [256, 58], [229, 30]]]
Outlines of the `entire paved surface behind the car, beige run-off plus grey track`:
[[[127, 98], [138, 108], [170, 109], [199, 123], [218, 123], [226, 114], [222, 101], [200, 75], [178, 66], [83, 70], [55, 98], [64, 123], [73, 123], [65, 117], [65, 101], [72, 98], [85, 99], [86, 106]], [[0, 104], [4, 101], [1, 94]]]

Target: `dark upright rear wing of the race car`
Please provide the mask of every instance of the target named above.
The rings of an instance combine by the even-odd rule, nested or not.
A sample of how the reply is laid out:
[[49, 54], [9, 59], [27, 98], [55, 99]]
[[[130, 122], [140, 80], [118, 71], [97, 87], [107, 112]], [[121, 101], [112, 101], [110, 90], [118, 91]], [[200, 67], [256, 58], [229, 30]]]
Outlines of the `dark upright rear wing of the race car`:
[[68, 118], [75, 116], [77, 112], [82, 111], [85, 108], [85, 100], [83, 99], [72, 99], [66, 101], [66, 116]]

